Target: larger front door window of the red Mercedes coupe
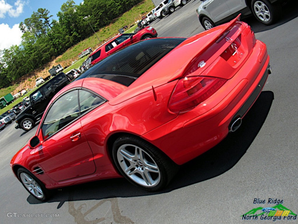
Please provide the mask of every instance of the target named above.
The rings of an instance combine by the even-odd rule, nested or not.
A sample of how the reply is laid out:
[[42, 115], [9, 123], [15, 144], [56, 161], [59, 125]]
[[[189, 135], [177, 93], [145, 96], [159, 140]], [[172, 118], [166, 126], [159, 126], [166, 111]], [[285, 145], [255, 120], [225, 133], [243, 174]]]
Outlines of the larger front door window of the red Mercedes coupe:
[[80, 115], [78, 90], [66, 93], [57, 99], [49, 109], [43, 124], [42, 133], [45, 138], [65, 127]]

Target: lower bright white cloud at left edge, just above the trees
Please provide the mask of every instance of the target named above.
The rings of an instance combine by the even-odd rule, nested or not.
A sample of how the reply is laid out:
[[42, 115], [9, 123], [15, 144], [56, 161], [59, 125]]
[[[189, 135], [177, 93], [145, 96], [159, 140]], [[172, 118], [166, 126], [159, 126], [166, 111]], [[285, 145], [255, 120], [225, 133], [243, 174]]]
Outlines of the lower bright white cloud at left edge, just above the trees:
[[10, 28], [8, 24], [0, 24], [0, 50], [8, 49], [12, 45], [21, 44], [22, 31], [19, 29], [19, 24], [13, 25], [13, 28]]

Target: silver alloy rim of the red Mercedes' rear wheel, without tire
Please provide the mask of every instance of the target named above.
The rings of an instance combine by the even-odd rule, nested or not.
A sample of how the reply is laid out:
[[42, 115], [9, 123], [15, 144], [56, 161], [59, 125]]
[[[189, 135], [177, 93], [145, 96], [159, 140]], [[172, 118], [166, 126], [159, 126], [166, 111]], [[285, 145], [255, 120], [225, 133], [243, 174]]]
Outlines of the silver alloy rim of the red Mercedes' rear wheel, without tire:
[[153, 158], [142, 148], [125, 144], [117, 150], [117, 160], [124, 173], [139, 185], [154, 187], [160, 182], [160, 171]]

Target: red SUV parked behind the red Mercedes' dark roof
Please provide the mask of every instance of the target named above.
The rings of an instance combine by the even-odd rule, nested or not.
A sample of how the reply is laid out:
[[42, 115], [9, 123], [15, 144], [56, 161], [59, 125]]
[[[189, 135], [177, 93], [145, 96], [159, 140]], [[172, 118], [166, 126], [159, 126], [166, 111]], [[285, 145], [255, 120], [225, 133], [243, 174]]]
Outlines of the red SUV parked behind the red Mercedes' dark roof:
[[157, 37], [157, 32], [153, 27], [146, 27], [137, 33], [123, 33], [117, 35], [90, 54], [91, 65], [95, 65], [97, 62], [128, 45], [153, 37]]

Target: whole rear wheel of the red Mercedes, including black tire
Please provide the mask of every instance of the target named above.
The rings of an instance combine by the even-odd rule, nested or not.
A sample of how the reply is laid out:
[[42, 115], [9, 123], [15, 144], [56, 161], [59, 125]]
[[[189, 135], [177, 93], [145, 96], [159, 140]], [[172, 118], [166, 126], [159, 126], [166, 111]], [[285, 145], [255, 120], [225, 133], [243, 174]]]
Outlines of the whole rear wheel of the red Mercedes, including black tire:
[[112, 150], [119, 173], [146, 191], [161, 190], [178, 171], [178, 165], [162, 151], [136, 136], [119, 137]]

